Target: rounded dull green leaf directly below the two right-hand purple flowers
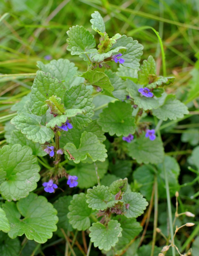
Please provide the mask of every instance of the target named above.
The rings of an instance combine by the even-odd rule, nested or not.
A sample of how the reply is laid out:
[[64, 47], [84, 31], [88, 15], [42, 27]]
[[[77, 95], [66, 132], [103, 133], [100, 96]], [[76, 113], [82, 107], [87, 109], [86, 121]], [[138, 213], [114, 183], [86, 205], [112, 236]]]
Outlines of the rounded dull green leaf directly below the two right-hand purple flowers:
[[149, 138], [141, 136], [128, 143], [127, 147], [129, 156], [138, 164], [158, 164], [164, 159], [163, 144], [158, 138], [151, 141]]

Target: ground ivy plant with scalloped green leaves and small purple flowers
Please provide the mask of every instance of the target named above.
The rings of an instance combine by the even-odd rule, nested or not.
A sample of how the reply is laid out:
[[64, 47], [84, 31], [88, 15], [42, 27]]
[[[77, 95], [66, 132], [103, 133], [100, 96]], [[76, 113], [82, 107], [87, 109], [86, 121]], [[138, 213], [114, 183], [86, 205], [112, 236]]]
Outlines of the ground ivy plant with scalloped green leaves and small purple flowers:
[[[97, 47], [83, 26], [67, 31], [67, 50], [87, 70], [79, 72], [67, 59], [38, 61], [31, 93], [12, 107], [17, 115], [6, 125], [8, 145], [0, 150], [0, 229], [11, 239], [25, 234], [38, 243], [57, 227], [58, 236], [87, 230], [94, 247], [116, 253], [141, 232], [136, 218], [150, 200], [147, 181], [141, 189], [146, 199], [128, 185], [132, 161], [141, 165], [137, 181], [159, 172], [163, 182], [164, 163], [168, 172], [177, 169], [171, 182], [179, 175], [152, 116], [161, 123], [189, 112], [165, 92], [174, 78], [157, 75], [152, 56], [140, 66], [138, 41], [119, 33], [110, 38], [99, 12], [91, 16]], [[74, 194], [75, 187], [81, 193]], [[47, 193], [57, 193], [54, 205]]]

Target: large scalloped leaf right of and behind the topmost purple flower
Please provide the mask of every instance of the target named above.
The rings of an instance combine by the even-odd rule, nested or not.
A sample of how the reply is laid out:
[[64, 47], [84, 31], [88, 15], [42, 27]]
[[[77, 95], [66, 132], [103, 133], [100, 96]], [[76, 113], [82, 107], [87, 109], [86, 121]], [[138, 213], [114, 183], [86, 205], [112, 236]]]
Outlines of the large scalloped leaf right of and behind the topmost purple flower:
[[123, 53], [122, 58], [125, 62], [122, 63], [124, 67], [138, 69], [140, 67], [140, 58], [143, 54], [143, 46], [138, 43], [137, 40], [133, 40], [132, 37], [127, 37], [123, 35], [117, 43], [113, 45], [115, 47], [126, 47], [127, 51]]

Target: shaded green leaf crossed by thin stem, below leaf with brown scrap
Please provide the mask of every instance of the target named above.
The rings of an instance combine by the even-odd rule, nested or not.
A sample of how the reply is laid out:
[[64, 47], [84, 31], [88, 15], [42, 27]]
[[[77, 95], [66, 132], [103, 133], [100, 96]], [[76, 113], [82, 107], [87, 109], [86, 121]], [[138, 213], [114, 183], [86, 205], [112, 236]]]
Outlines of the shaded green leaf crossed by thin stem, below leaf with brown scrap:
[[[69, 164], [73, 162], [69, 162]], [[103, 178], [104, 174], [108, 170], [108, 161], [105, 162], [95, 162], [95, 163], [79, 163], [73, 164], [74, 168], [69, 170], [70, 175], [75, 175], [78, 177], [78, 187], [79, 188], [90, 188], [97, 184], [97, 176], [95, 166], [97, 167], [97, 174], [99, 178]]]

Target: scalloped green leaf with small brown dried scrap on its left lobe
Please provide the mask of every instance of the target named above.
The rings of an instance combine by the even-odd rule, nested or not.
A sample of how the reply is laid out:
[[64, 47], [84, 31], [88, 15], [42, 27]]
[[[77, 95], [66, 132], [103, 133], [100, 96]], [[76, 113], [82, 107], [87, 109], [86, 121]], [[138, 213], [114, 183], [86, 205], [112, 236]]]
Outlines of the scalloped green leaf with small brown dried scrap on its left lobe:
[[80, 161], [85, 160], [88, 157], [92, 159], [93, 162], [99, 160], [101, 162], [104, 162], [107, 157], [107, 150], [105, 148], [105, 145], [102, 144], [95, 134], [92, 132], [86, 132], [84, 131], [82, 133], [82, 137], [80, 140], [79, 148], [77, 149], [76, 146], [72, 143], [67, 143], [64, 147], [65, 154], [68, 156], [68, 159], [70, 158], [70, 155], [67, 153], [66, 150], [70, 152], [70, 154], [73, 156], [74, 163], [78, 164]]

